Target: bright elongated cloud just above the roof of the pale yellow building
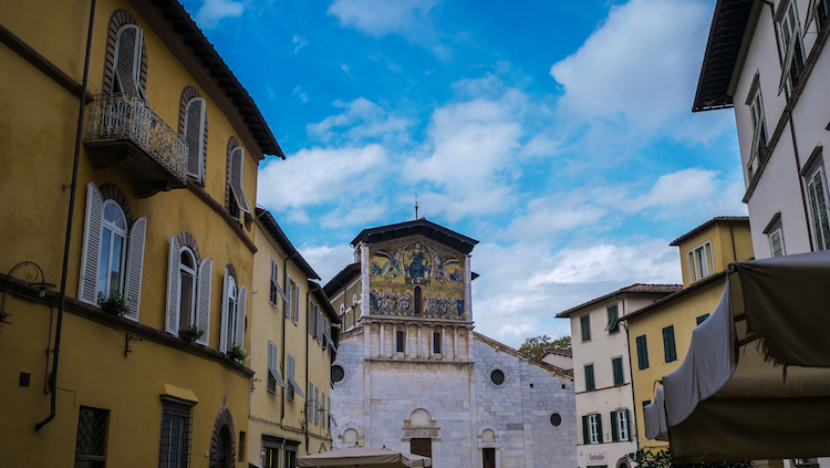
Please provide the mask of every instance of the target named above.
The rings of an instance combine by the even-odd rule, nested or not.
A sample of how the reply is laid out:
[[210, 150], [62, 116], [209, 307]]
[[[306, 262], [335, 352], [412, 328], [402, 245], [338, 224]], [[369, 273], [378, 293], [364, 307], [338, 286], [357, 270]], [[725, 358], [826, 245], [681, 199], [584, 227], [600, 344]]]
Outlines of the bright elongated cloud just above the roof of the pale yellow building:
[[304, 208], [355, 197], [374, 188], [386, 166], [380, 145], [301, 149], [272, 159], [259, 171], [257, 200], [274, 210]]

